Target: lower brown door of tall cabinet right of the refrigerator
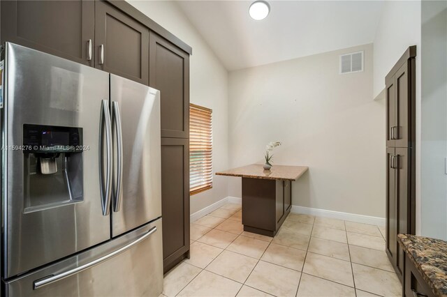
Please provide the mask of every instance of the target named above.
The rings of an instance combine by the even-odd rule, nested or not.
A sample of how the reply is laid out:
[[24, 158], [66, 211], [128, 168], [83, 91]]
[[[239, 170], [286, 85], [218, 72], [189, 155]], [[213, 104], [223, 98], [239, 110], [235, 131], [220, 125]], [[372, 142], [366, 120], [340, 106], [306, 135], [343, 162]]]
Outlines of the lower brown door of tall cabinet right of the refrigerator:
[[189, 139], [161, 138], [161, 218], [166, 273], [189, 251]]

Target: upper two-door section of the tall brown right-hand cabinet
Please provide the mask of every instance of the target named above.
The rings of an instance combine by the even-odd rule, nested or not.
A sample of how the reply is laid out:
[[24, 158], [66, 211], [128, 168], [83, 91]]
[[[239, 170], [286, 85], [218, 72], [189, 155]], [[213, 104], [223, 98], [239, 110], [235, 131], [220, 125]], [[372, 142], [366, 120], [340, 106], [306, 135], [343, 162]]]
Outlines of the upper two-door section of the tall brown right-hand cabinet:
[[416, 138], [416, 46], [386, 76], [386, 146], [413, 147]]

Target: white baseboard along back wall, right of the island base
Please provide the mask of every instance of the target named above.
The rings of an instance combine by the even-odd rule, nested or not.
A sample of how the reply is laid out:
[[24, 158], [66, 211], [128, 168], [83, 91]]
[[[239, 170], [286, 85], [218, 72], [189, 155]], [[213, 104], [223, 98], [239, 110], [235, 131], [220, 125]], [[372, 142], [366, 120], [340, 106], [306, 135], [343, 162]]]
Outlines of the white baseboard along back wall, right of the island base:
[[372, 217], [369, 215], [357, 215], [356, 213], [343, 213], [342, 211], [328, 211], [325, 209], [293, 205], [291, 213], [318, 215], [320, 217], [325, 218], [333, 218], [350, 222], [359, 222], [363, 224], [375, 224], [377, 226], [385, 226], [385, 218]]

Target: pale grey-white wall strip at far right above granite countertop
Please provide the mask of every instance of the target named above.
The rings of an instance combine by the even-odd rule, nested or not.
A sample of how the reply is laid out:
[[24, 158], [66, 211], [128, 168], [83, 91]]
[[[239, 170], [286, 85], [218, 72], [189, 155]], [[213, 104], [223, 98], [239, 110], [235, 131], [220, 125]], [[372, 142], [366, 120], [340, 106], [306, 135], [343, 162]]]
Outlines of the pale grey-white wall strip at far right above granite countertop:
[[422, 2], [421, 234], [447, 240], [447, 1]]

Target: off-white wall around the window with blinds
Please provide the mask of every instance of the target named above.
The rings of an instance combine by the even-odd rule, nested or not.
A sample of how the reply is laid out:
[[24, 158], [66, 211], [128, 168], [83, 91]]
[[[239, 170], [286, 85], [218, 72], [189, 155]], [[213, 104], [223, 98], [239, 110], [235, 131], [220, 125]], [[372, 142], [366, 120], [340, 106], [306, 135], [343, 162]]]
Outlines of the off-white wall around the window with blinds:
[[[228, 169], [228, 72], [175, 2], [129, 3], [193, 48], [190, 100], [213, 110], [213, 170]], [[211, 190], [191, 196], [191, 213], [227, 197], [227, 184], [225, 176], [213, 176]]]

